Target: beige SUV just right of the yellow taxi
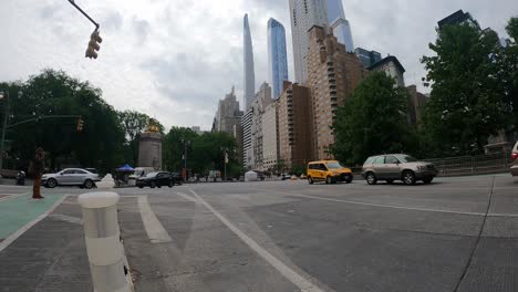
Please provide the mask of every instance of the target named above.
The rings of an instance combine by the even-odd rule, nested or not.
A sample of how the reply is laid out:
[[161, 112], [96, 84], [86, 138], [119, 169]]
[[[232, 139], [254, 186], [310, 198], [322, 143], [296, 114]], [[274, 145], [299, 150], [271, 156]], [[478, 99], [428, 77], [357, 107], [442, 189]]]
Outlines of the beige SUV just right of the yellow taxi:
[[405, 185], [414, 185], [417, 180], [429, 184], [437, 176], [434, 164], [419, 161], [406, 154], [386, 154], [369, 157], [363, 164], [362, 177], [369, 185], [377, 180], [392, 184], [402, 180]]

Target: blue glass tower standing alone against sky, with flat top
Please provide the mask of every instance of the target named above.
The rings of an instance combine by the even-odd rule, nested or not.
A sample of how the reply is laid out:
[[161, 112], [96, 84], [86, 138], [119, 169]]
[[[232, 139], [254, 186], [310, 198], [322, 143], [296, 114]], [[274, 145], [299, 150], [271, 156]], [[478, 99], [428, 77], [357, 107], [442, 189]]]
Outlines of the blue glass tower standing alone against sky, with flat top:
[[268, 20], [268, 71], [273, 98], [282, 94], [282, 82], [288, 80], [284, 27], [277, 20]]

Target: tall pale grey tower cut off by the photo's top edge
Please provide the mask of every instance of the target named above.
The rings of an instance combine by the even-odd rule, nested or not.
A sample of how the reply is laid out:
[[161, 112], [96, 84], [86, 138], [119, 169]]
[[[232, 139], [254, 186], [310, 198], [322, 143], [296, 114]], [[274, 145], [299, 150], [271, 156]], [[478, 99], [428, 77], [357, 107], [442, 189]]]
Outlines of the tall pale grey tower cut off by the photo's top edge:
[[308, 31], [313, 25], [329, 27], [325, 0], [289, 0], [296, 81], [308, 80]]

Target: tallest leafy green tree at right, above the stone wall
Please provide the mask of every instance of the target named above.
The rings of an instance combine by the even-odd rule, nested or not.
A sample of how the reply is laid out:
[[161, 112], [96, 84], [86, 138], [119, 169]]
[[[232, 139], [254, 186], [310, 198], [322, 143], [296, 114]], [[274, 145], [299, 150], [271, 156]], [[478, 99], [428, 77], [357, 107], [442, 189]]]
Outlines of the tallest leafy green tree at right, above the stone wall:
[[436, 55], [422, 59], [432, 82], [423, 129], [437, 154], [483, 153], [510, 112], [499, 80], [498, 35], [470, 24], [446, 25], [437, 34], [429, 44]]

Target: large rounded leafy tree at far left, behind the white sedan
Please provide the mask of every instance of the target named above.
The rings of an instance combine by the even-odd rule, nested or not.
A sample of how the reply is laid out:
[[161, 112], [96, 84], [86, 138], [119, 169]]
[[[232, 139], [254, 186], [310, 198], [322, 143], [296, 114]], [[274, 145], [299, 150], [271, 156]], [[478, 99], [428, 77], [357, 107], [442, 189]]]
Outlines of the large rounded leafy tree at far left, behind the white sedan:
[[[123, 163], [124, 133], [114, 108], [101, 98], [100, 88], [73, 79], [63, 71], [44, 70], [19, 86], [20, 97], [11, 92], [10, 156], [31, 159], [37, 147], [48, 152], [48, 167], [62, 165], [96, 167], [108, 171]], [[82, 132], [77, 115], [84, 121]]]

